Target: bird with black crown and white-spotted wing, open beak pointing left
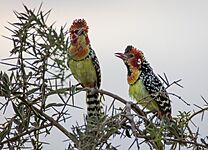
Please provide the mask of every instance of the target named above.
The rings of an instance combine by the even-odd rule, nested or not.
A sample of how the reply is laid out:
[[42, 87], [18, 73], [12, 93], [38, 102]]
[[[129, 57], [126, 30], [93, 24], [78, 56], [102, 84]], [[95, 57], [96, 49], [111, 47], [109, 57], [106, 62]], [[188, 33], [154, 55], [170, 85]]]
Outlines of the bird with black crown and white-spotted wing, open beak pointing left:
[[171, 101], [141, 50], [127, 46], [124, 53], [115, 53], [127, 67], [129, 95], [138, 104], [162, 118], [171, 120]]

